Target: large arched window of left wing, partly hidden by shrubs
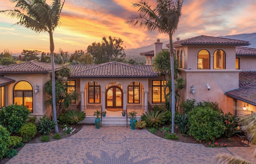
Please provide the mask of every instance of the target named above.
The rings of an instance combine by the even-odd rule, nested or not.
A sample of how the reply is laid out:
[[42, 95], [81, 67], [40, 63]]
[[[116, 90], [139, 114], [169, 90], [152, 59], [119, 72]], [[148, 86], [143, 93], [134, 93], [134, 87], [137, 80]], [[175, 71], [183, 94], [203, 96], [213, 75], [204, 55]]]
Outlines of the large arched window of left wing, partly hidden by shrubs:
[[20, 81], [15, 84], [13, 90], [13, 103], [24, 105], [33, 113], [33, 89], [27, 81]]

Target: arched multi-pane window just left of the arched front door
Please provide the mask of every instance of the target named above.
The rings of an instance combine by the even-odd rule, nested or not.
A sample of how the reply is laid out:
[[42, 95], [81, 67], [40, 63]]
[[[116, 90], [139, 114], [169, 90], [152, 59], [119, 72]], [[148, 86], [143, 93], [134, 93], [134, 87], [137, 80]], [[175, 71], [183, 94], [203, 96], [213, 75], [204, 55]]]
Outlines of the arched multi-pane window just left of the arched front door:
[[88, 85], [89, 103], [100, 103], [100, 85], [95, 81], [90, 81]]

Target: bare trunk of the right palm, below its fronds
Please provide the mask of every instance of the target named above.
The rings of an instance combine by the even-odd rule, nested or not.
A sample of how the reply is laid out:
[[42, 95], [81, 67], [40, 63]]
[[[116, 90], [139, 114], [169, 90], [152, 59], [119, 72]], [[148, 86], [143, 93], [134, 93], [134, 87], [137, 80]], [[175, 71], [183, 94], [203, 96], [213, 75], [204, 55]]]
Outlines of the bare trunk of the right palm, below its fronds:
[[174, 115], [175, 115], [175, 84], [174, 84], [174, 51], [172, 44], [172, 34], [169, 34], [170, 40], [170, 64], [171, 64], [171, 80], [172, 80], [172, 94], [170, 97], [170, 103], [172, 102], [172, 130], [171, 133], [174, 133]]

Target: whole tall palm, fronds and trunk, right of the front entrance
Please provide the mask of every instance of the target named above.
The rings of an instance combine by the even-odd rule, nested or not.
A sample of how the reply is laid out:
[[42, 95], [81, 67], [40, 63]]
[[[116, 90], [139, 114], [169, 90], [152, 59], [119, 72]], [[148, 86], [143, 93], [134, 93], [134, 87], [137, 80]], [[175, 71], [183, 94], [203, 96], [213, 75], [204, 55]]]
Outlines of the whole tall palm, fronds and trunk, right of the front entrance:
[[152, 9], [148, 2], [141, 0], [138, 3], [133, 3], [134, 8], [138, 8], [139, 14], [132, 15], [126, 21], [127, 24], [134, 26], [139, 25], [143, 30], [156, 30], [158, 33], [169, 35], [170, 40], [170, 65], [171, 65], [171, 80], [172, 80], [172, 133], [174, 133], [174, 113], [175, 113], [175, 86], [174, 86], [174, 49], [172, 44], [172, 35], [177, 30], [181, 16], [183, 0], [156, 0], [156, 8]]

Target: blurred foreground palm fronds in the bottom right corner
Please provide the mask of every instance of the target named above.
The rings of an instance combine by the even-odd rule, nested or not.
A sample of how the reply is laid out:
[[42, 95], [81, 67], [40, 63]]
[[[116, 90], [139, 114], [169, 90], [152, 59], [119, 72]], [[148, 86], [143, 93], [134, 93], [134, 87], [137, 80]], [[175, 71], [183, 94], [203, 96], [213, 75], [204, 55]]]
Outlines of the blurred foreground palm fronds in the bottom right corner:
[[[239, 122], [243, 125], [242, 130], [248, 133], [249, 140], [252, 141], [252, 144], [256, 144], [256, 113], [240, 117]], [[254, 154], [255, 153], [256, 149], [254, 151]], [[255, 157], [256, 156], [254, 156], [254, 158]], [[214, 157], [214, 162], [220, 164], [252, 164], [252, 162], [248, 160], [230, 154], [218, 154]]]

